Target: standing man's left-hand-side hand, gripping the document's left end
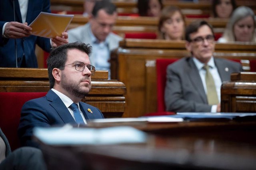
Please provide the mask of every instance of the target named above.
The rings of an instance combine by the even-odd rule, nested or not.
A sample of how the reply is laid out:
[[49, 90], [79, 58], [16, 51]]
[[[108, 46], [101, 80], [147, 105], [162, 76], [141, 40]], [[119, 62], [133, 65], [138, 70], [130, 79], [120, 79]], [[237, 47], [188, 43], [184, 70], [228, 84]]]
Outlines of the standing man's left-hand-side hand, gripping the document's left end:
[[7, 38], [23, 38], [31, 35], [32, 28], [28, 23], [11, 21], [5, 25], [4, 36]]

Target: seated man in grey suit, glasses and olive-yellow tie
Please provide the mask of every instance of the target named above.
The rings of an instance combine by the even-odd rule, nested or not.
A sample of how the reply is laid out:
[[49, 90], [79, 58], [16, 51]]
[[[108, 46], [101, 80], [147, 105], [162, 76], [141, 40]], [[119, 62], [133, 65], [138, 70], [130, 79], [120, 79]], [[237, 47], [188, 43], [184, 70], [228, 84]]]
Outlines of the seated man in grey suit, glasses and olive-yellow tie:
[[[192, 57], [185, 57], [167, 68], [165, 104], [167, 111], [220, 112], [220, 87], [230, 80], [232, 72], [242, 71], [240, 63], [213, 57], [215, 48], [212, 26], [206, 21], [195, 21], [186, 28], [186, 49]], [[216, 102], [211, 103], [214, 93], [208, 89], [206, 68], [212, 75]], [[208, 90], [208, 91], [207, 91]]]

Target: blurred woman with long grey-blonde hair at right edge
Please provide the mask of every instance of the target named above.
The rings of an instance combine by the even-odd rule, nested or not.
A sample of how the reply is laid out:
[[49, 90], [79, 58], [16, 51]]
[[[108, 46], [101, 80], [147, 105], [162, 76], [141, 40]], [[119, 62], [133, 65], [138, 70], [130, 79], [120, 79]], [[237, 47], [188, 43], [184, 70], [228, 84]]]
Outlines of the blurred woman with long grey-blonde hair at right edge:
[[240, 6], [234, 10], [223, 36], [218, 39], [220, 43], [242, 41], [256, 42], [255, 14], [251, 8]]

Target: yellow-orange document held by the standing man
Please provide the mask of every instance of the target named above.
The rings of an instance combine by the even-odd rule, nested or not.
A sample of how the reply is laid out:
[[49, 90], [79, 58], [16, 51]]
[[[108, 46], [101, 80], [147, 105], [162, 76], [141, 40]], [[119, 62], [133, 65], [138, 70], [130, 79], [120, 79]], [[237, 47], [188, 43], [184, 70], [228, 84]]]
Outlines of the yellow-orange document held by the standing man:
[[40, 12], [29, 26], [32, 27], [32, 35], [54, 38], [57, 35], [60, 36], [62, 32], [66, 31], [73, 17], [74, 15]]

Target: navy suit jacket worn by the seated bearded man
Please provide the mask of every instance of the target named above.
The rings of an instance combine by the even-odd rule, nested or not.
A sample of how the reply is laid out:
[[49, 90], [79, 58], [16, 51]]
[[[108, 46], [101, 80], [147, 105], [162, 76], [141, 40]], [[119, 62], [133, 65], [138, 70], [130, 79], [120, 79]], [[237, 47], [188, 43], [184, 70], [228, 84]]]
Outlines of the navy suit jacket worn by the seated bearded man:
[[[104, 118], [101, 111], [94, 106], [84, 102], [79, 102], [79, 106], [87, 121]], [[88, 108], [92, 113], [87, 111]], [[49, 90], [46, 96], [30, 100], [22, 106], [18, 136], [23, 146], [38, 147], [31, 140], [34, 127], [50, 127], [67, 123], [76, 124], [76, 121], [59, 96]]]

